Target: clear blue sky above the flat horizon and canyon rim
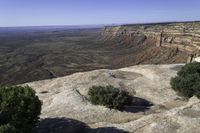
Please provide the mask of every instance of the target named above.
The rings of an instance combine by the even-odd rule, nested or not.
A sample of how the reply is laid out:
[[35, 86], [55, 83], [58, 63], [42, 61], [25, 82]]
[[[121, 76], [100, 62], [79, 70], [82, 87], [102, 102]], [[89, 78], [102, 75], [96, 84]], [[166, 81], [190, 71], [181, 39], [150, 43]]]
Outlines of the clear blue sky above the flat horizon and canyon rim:
[[0, 27], [200, 20], [200, 0], [0, 0]]

